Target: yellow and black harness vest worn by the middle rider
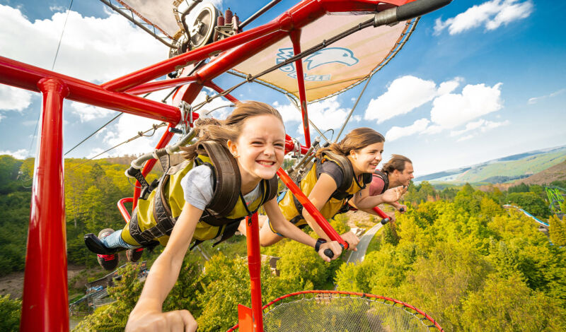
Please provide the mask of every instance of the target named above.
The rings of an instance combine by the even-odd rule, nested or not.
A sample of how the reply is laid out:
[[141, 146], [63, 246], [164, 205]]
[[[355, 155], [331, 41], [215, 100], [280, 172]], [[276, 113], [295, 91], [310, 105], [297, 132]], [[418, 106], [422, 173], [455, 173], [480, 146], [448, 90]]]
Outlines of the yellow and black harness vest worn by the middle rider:
[[[306, 196], [311, 194], [311, 191], [318, 181], [318, 177], [320, 177], [322, 172], [321, 166], [324, 162], [334, 162], [338, 165], [338, 167], [340, 167], [340, 170], [342, 170], [342, 174], [344, 175], [342, 177], [342, 183], [337, 184], [337, 189], [330, 196], [328, 202], [324, 204], [323, 208], [320, 209], [320, 213], [323, 217], [330, 219], [337, 213], [340, 213], [340, 208], [342, 208], [342, 206], [344, 206], [344, 204], [352, 198], [354, 194], [366, 187], [366, 183], [371, 181], [371, 174], [364, 173], [362, 184], [360, 184], [354, 175], [352, 164], [348, 158], [343, 155], [337, 155], [335, 153], [325, 151], [322, 153], [320, 158], [316, 159], [313, 167], [307, 172], [304, 178], [297, 180], [297, 185]], [[306, 220], [304, 220], [302, 215], [303, 206], [299, 203], [299, 200], [296, 199], [291, 191], [287, 191], [283, 199], [279, 201], [279, 209], [283, 213], [284, 217], [287, 220], [290, 220], [291, 223], [294, 223], [297, 226], [306, 224]]]

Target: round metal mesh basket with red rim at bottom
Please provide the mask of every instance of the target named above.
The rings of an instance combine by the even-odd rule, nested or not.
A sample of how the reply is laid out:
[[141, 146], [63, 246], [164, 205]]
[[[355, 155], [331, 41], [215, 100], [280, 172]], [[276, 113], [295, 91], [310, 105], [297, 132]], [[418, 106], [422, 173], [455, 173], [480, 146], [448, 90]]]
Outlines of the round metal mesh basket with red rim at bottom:
[[265, 332], [444, 331], [429, 315], [410, 304], [364, 293], [295, 292], [273, 300], [263, 309]]

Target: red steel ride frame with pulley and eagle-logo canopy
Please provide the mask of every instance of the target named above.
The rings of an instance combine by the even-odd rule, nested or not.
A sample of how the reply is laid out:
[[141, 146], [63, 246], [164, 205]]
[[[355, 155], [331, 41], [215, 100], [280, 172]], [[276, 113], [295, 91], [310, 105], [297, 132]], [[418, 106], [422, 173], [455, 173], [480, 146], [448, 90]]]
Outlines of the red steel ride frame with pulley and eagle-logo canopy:
[[[154, 2], [158, 5], [163, 1], [165, 0]], [[139, 14], [142, 20], [149, 21], [144, 13], [127, 6], [146, 1], [119, 2], [130, 8], [132, 13]], [[170, 3], [171, 0], [166, 2]], [[198, 2], [200, 1], [193, 1], [193, 4]], [[171, 130], [166, 131], [158, 142], [156, 149], [161, 149], [173, 138], [175, 126], [181, 126], [187, 131], [198, 119], [197, 111], [208, 102], [216, 97], [237, 102], [231, 95], [233, 90], [245, 83], [262, 80], [260, 83], [270, 85], [294, 99], [301, 109], [305, 145], [300, 145], [287, 136], [286, 153], [293, 151], [298, 155], [312, 154], [307, 103], [330, 97], [365, 80], [367, 84], [371, 75], [379, 71], [403, 47], [419, 16], [450, 2], [451, 0], [304, 0], [269, 23], [242, 31], [253, 17], [240, 24], [238, 18], [234, 20], [233, 16], [229, 18], [226, 14], [224, 22], [221, 22], [216, 16], [217, 12], [213, 10], [201, 12], [189, 28], [185, 18], [195, 6], [190, 4], [181, 11], [177, 7], [188, 2], [175, 0], [175, 21], [179, 21], [183, 29], [171, 32], [178, 30], [178, 25], [170, 25], [168, 21], [152, 23], [155, 35], [156, 29], [166, 35], [162, 39], [171, 47], [171, 58], [101, 85], [0, 57], [0, 83], [39, 92], [43, 96], [25, 261], [21, 331], [69, 330], [62, 150], [64, 99], [165, 121]], [[267, 10], [265, 8], [260, 12]], [[349, 15], [333, 15], [338, 13]], [[216, 23], [222, 24], [214, 27], [214, 17]], [[152, 20], [161, 22], [159, 20], [162, 18], [158, 15]], [[333, 27], [328, 37], [309, 34], [309, 30], [320, 30], [321, 24]], [[164, 28], [166, 25], [172, 27], [171, 30]], [[373, 35], [367, 33], [368, 28], [373, 29], [369, 29]], [[364, 33], [354, 34], [359, 30], [364, 30]], [[358, 38], [360, 36], [361, 40]], [[216, 40], [208, 43], [209, 38]], [[375, 52], [364, 55], [360, 51], [361, 55], [358, 55], [357, 50], [352, 51], [342, 44], [348, 41]], [[380, 41], [391, 47], [378, 50], [375, 42]], [[336, 57], [340, 57], [340, 60], [336, 60]], [[344, 70], [344, 66], [347, 70]], [[231, 69], [236, 71], [233, 74], [243, 76], [245, 80], [226, 90], [212, 81]], [[171, 79], [152, 81], [168, 74], [171, 74]], [[212, 88], [218, 94], [193, 105], [203, 87]], [[137, 96], [166, 88], [177, 88], [173, 104], [179, 107]], [[320, 135], [323, 136], [323, 133]], [[139, 167], [141, 174], [150, 172], [155, 162], [156, 159], [152, 158], [143, 167]], [[316, 211], [289, 175], [282, 169], [277, 174], [330, 239], [347, 248], [347, 243]], [[134, 197], [125, 200], [131, 199], [135, 207], [139, 195], [137, 188], [134, 190]], [[128, 220], [129, 213], [123, 207], [125, 200], [120, 202], [120, 211]], [[241, 331], [264, 331], [257, 215], [246, 221], [252, 306], [239, 307], [239, 328]], [[411, 308], [405, 305], [402, 307]], [[419, 319], [429, 321], [431, 326], [441, 329], [428, 315], [424, 314], [423, 317]]]

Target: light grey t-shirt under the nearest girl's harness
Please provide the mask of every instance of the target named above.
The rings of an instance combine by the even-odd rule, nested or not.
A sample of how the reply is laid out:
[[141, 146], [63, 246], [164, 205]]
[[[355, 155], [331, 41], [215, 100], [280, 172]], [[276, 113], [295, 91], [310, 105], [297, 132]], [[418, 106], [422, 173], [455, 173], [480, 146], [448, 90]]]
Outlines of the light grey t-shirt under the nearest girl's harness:
[[[207, 165], [197, 166], [187, 172], [187, 175], [181, 179], [185, 202], [190, 203], [195, 208], [204, 210], [212, 201], [212, 194], [214, 194], [212, 181], [212, 170]], [[246, 204], [250, 205], [250, 203], [258, 199], [260, 194], [260, 185], [258, 184], [243, 198]]]

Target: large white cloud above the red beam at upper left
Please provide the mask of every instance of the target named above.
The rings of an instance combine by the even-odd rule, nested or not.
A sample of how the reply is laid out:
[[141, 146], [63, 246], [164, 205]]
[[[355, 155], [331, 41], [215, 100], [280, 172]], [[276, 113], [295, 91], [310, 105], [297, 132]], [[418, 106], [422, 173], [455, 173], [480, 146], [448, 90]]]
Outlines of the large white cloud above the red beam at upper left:
[[[17, 8], [0, 5], [2, 55], [51, 69], [66, 16], [57, 12], [30, 22]], [[161, 61], [166, 51], [166, 46], [116, 13], [94, 18], [71, 11], [54, 70], [99, 83]]]

